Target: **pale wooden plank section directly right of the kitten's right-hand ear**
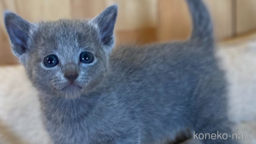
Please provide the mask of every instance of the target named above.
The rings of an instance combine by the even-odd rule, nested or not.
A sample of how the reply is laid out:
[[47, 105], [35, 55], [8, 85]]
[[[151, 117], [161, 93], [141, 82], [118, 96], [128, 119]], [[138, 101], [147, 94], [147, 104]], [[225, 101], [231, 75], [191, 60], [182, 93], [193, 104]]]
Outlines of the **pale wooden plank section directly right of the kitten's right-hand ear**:
[[107, 5], [119, 6], [116, 30], [156, 28], [157, 0], [106, 0]]

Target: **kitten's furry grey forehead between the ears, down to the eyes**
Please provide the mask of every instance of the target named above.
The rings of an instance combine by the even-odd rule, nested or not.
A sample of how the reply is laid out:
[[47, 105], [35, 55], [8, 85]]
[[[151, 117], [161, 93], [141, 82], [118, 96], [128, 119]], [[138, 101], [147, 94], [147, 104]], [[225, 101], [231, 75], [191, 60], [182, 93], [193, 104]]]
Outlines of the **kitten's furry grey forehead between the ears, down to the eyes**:
[[59, 54], [66, 59], [77, 57], [83, 50], [94, 52], [100, 47], [96, 28], [86, 20], [42, 22], [34, 33], [34, 39], [40, 55]]

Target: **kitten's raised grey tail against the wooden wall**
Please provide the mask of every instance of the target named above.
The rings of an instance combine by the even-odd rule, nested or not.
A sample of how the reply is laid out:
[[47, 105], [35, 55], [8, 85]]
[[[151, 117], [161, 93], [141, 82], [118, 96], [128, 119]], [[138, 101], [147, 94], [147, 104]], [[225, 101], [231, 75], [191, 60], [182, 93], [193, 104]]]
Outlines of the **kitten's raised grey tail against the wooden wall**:
[[207, 7], [202, 0], [187, 0], [193, 21], [191, 39], [213, 40], [213, 25]]

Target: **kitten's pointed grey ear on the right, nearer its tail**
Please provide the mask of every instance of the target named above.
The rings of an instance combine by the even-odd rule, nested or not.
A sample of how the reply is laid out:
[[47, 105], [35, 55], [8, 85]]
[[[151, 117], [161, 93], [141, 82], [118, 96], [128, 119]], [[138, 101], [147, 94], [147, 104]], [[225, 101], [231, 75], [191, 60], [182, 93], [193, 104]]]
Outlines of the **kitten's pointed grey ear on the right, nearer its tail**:
[[97, 25], [100, 33], [101, 42], [109, 47], [114, 46], [114, 24], [117, 20], [118, 7], [117, 5], [106, 8], [100, 15], [92, 20]]

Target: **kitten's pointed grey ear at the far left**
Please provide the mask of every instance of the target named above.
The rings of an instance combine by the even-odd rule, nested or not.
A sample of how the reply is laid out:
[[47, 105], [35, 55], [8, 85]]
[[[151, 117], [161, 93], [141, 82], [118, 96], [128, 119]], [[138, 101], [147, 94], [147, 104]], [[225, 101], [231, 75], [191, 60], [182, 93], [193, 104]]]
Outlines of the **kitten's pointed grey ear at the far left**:
[[31, 24], [12, 12], [5, 12], [4, 21], [12, 50], [19, 57], [28, 51]]

